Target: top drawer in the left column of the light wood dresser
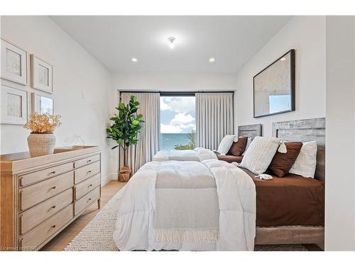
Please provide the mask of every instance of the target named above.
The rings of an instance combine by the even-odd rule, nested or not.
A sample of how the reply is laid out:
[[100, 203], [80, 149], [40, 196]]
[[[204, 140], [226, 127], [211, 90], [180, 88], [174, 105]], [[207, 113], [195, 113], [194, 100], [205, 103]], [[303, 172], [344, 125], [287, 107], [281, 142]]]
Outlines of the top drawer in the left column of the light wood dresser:
[[64, 165], [50, 167], [37, 172], [31, 172], [30, 174], [23, 174], [20, 176], [20, 186], [25, 187], [28, 184], [33, 184], [49, 177], [55, 177], [58, 174], [69, 172], [70, 170], [73, 170], [72, 162], [68, 162]]

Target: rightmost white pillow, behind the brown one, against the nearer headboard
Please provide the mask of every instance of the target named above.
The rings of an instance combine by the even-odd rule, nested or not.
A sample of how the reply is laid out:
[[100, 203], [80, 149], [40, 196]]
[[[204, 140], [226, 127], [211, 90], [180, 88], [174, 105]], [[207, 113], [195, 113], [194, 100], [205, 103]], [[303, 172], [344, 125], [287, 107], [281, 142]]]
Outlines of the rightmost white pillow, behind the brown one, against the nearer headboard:
[[302, 177], [315, 177], [315, 167], [317, 165], [317, 142], [310, 141], [303, 143], [300, 154], [297, 156], [291, 174], [299, 174]]

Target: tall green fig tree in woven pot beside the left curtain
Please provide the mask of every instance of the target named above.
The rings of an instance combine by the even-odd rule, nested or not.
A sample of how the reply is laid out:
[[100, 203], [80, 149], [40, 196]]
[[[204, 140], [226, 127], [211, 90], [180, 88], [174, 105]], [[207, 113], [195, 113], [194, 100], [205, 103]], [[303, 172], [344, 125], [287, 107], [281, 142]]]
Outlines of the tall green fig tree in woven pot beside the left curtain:
[[117, 145], [112, 148], [120, 147], [124, 156], [124, 165], [119, 170], [119, 182], [127, 182], [131, 177], [131, 169], [127, 163], [127, 150], [129, 146], [136, 145], [138, 143], [138, 133], [141, 130], [141, 124], [143, 121], [143, 115], [137, 114], [139, 102], [136, 96], [131, 96], [128, 104], [120, 103], [116, 109], [119, 113], [115, 113], [110, 118], [114, 121], [112, 125], [107, 126], [107, 138], [111, 138], [116, 141]]

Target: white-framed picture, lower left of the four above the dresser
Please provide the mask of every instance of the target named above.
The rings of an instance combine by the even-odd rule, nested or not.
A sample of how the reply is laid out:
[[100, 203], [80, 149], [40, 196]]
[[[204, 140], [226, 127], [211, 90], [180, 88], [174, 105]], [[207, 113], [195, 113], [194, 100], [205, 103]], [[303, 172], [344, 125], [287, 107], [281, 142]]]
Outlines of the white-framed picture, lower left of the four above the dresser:
[[27, 121], [27, 92], [1, 85], [1, 123], [24, 125]]

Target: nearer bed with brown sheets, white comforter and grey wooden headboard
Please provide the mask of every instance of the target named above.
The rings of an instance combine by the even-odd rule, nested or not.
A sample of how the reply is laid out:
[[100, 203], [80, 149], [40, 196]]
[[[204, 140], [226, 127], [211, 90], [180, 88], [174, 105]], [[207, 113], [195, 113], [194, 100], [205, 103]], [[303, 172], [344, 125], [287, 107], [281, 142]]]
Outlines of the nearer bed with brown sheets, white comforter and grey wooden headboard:
[[273, 136], [317, 140], [315, 179], [289, 174], [262, 181], [215, 159], [148, 162], [120, 192], [116, 245], [121, 250], [323, 245], [325, 119], [275, 122]]

